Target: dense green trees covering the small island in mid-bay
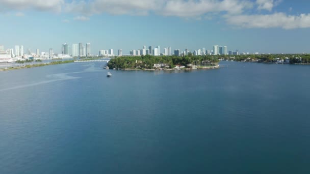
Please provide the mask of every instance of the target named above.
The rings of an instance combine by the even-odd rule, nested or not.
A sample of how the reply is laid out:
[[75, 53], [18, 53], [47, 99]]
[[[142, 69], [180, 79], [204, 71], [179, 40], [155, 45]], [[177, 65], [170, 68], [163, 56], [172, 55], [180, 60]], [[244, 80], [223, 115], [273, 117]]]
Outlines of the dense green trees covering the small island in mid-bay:
[[[169, 68], [174, 68], [175, 65], [183, 65], [190, 68], [190, 65], [197, 65], [197, 63], [208, 61], [210, 65], [218, 65], [219, 60], [213, 56], [153, 56], [153, 55], [142, 55], [142, 56], [120, 56], [111, 59], [108, 63], [110, 69], [153, 69], [154, 64], [165, 64]], [[168, 68], [168, 67], [167, 67]]]

